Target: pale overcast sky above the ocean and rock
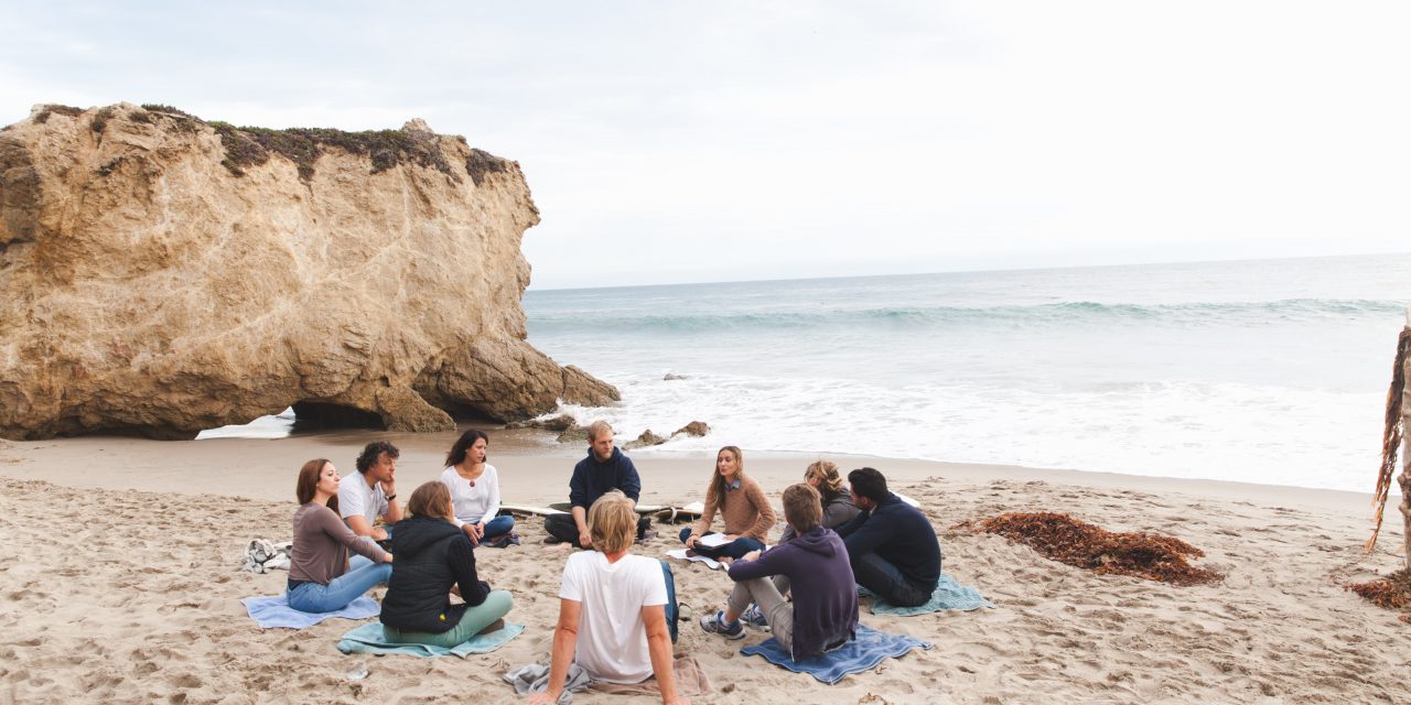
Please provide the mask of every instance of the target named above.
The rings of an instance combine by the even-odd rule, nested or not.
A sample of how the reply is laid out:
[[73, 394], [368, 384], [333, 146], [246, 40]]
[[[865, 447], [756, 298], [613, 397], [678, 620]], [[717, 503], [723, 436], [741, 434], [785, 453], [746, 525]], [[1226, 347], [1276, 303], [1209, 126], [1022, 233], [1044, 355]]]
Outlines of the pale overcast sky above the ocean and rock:
[[0, 123], [412, 117], [535, 288], [1411, 250], [1411, 3], [0, 0]]

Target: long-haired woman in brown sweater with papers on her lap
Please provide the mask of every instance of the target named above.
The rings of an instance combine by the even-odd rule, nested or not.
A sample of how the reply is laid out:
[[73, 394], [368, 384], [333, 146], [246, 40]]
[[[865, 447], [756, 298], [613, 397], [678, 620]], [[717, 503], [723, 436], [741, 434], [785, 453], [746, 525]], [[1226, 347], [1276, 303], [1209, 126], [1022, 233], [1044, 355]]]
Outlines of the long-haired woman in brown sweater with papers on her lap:
[[[715, 512], [725, 523], [725, 540], [720, 546], [706, 546], [701, 539], [710, 530]], [[735, 446], [725, 446], [715, 454], [715, 472], [706, 488], [706, 510], [691, 526], [682, 529], [682, 543], [708, 558], [739, 558], [765, 547], [769, 529], [775, 526], [775, 509], [759, 489], [759, 484], [745, 477], [745, 457]]]

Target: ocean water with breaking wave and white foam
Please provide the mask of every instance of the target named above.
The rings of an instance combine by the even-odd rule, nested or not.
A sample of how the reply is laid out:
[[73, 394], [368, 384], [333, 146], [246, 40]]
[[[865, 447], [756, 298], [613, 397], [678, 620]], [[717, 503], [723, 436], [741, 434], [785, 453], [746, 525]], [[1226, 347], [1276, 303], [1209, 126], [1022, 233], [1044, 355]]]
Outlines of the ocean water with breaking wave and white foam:
[[[1370, 492], [1411, 255], [531, 290], [638, 454], [848, 453]], [[684, 379], [665, 379], [667, 374]], [[883, 468], [885, 470], [885, 468]]]

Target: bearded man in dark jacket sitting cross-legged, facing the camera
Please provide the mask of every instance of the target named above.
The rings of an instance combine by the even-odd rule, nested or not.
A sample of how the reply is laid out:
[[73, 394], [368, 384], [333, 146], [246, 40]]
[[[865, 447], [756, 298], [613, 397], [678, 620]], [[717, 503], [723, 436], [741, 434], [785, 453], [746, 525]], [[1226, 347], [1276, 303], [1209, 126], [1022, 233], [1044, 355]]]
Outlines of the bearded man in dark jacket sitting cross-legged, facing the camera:
[[[588, 426], [588, 457], [573, 467], [573, 478], [569, 479], [569, 508], [567, 515], [549, 515], [543, 520], [543, 529], [552, 539], [567, 541], [579, 548], [591, 548], [593, 537], [588, 536], [588, 508], [593, 502], [611, 491], [619, 491], [636, 505], [642, 496], [642, 478], [632, 465], [632, 458], [622, 454], [612, 446], [612, 426], [608, 422], [593, 422]], [[636, 525], [636, 537], [642, 539], [652, 525], [648, 517], [641, 517]]]

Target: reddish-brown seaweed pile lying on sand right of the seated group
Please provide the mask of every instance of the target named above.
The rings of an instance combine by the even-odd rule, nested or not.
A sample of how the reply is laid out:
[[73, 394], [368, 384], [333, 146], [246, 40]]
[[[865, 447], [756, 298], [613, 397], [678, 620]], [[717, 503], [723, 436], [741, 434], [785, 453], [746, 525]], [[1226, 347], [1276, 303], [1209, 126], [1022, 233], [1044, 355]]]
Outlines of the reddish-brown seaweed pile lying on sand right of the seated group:
[[1070, 515], [1010, 512], [974, 523], [981, 532], [1022, 543], [1068, 565], [1098, 574], [1132, 575], [1173, 585], [1205, 585], [1221, 574], [1197, 568], [1187, 557], [1205, 556], [1199, 548], [1170, 536], [1146, 532], [1113, 533]]

